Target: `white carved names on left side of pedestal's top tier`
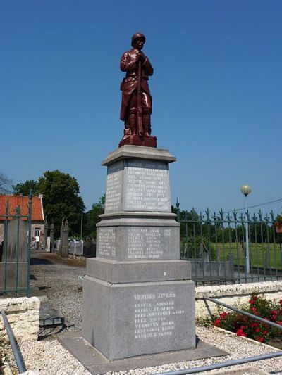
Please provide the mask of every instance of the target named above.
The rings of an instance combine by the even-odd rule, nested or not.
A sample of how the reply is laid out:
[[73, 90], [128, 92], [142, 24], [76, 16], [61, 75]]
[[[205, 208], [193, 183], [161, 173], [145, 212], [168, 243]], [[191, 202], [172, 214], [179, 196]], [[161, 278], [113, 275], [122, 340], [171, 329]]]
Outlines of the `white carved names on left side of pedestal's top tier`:
[[105, 212], [121, 209], [121, 190], [123, 178], [123, 163], [119, 162], [108, 167], [106, 178]]

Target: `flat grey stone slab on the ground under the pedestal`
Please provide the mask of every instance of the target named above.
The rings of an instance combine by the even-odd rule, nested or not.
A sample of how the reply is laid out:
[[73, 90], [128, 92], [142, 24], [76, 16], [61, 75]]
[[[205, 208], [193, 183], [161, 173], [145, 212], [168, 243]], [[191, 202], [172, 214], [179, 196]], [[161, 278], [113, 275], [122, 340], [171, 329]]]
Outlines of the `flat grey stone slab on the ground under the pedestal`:
[[[195, 349], [164, 352], [155, 355], [140, 355], [125, 360], [109, 361], [99, 350], [87, 343], [80, 332], [69, 332], [58, 337], [61, 344], [68, 349], [93, 375], [106, 374], [110, 371], [126, 371], [144, 367], [161, 366], [166, 363], [188, 362], [209, 357], [221, 357], [226, 352], [204, 343], [196, 338]], [[121, 345], [123, 343], [121, 342]]]

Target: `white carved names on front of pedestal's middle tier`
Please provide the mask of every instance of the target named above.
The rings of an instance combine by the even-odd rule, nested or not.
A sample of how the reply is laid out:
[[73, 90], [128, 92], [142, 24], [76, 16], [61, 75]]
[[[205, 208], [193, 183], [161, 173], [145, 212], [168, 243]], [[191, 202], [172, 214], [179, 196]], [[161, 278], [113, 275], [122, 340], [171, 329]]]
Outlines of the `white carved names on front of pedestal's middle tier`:
[[[132, 227], [128, 229], [128, 258], [161, 258], [169, 246], [171, 229]], [[164, 241], [161, 241], [164, 239]]]

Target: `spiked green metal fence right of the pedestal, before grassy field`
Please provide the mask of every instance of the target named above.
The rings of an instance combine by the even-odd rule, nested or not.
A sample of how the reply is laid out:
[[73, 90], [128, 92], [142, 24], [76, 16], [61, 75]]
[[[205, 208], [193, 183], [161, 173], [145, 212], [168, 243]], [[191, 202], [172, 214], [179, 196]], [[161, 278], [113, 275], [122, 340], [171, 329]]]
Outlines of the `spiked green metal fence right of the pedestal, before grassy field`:
[[282, 279], [282, 234], [274, 212], [177, 213], [180, 258], [192, 262], [197, 284]]

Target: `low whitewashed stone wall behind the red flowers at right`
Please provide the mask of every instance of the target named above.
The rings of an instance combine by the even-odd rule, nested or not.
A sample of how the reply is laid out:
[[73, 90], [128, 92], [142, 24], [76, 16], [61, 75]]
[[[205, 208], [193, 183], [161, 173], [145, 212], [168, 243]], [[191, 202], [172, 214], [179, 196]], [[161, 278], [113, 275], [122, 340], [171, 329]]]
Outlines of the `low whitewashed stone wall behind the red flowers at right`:
[[[280, 300], [282, 298], [282, 281], [264, 281], [262, 283], [197, 286], [195, 288], [196, 319], [209, 317], [203, 297], [214, 298], [227, 305], [240, 307], [250, 300], [250, 294], [264, 295], [268, 300]], [[215, 303], [207, 301], [212, 312], [217, 311]], [[231, 310], [229, 310], [231, 311]]]

